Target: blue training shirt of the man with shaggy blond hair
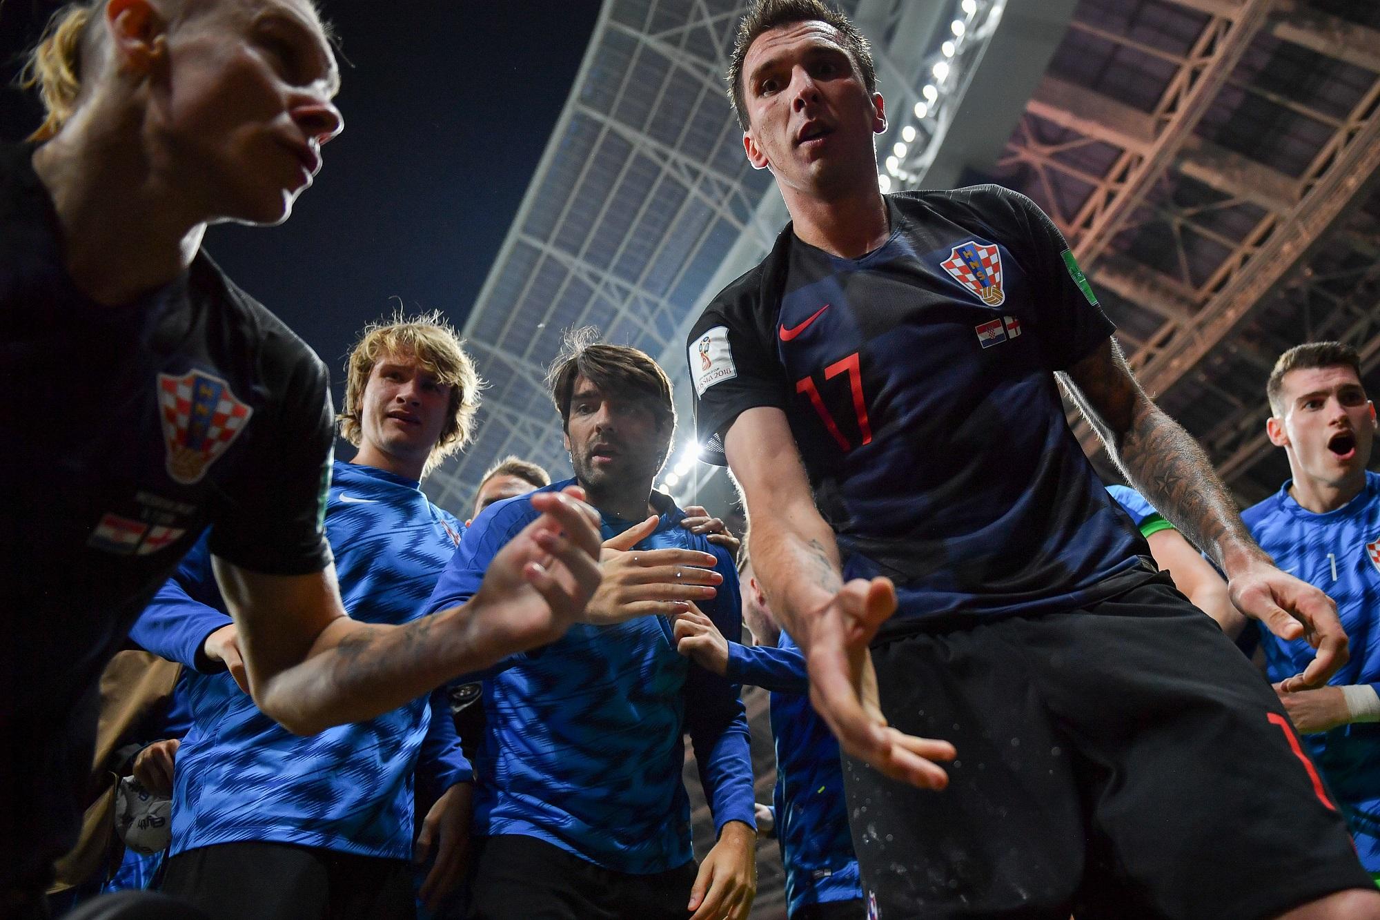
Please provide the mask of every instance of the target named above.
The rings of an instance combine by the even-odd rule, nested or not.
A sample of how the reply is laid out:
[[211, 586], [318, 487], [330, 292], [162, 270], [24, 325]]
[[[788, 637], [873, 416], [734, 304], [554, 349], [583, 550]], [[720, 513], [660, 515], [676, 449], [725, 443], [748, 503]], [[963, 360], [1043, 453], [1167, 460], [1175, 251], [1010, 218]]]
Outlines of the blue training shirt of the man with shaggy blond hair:
[[[353, 619], [396, 624], [422, 616], [462, 532], [415, 479], [335, 463], [326, 533]], [[131, 633], [144, 648], [196, 669], [185, 671], [192, 728], [177, 753], [172, 854], [261, 840], [410, 858], [414, 772], [436, 790], [471, 778], [440, 693], [299, 738], [206, 660], [206, 637], [229, 623], [203, 539]]]

